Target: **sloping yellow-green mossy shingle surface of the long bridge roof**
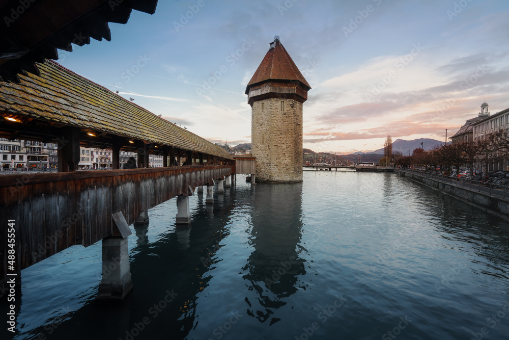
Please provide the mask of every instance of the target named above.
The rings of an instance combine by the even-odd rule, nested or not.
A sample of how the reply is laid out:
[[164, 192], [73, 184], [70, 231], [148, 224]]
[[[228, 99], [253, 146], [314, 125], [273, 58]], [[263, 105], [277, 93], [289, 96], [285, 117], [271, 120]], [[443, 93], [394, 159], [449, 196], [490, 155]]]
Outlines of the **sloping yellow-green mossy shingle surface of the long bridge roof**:
[[29, 73], [20, 75], [19, 84], [2, 83], [2, 111], [232, 159], [223, 148], [56, 62], [38, 68], [40, 76]]

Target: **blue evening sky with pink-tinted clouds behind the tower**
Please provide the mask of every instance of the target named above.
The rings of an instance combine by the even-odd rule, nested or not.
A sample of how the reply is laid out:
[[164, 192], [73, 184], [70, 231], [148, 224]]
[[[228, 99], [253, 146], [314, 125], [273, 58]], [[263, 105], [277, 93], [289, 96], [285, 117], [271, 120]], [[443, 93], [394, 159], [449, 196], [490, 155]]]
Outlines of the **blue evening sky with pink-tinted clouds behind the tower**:
[[303, 147], [445, 140], [509, 107], [507, 0], [167, 0], [58, 62], [213, 142], [250, 143], [246, 85], [274, 36], [312, 87]]

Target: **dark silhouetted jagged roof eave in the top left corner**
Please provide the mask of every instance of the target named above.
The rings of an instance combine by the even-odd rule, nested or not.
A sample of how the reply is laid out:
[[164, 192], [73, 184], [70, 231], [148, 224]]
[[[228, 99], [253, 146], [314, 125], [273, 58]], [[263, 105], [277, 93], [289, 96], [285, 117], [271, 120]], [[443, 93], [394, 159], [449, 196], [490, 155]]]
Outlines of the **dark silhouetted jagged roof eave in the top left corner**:
[[132, 10], [153, 14], [157, 0], [0, 0], [0, 77], [18, 81], [34, 62], [58, 59], [90, 39], [111, 40], [108, 22], [126, 23]]

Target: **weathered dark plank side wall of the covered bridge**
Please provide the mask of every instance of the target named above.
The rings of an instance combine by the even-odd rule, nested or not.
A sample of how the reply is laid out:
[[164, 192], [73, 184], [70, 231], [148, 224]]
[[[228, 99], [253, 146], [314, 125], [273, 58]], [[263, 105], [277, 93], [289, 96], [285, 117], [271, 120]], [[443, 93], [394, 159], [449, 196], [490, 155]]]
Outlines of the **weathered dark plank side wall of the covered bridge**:
[[[29, 267], [76, 244], [88, 247], [114, 231], [111, 215], [128, 224], [140, 213], [235, 166], [181, 166], [0, 176], [0, 282], [7, 274], [7, 220], [16, 224], [16, 268]], [[14, 185], [13, 185], [14, 184]]]

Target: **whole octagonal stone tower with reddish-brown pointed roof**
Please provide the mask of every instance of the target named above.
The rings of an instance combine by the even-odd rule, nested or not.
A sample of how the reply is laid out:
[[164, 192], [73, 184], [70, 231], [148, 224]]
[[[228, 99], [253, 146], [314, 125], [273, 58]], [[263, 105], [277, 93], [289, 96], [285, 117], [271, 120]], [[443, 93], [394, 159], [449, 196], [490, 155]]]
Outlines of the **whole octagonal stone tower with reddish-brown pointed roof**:
[[310, 89], [274, 37], [246, 87], [257, 181], [302, 181], [302, 103]]

